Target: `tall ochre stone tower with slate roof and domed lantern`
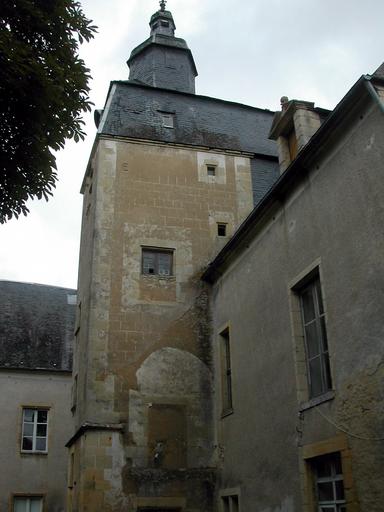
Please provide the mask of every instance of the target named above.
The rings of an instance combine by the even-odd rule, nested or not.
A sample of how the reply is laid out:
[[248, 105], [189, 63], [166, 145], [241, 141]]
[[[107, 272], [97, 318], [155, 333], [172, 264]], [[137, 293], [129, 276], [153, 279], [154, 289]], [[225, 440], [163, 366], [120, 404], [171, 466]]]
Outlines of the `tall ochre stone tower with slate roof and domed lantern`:
[[215, 510], [209, 297], [200, 275], [278, 174], [273, 113], [195, 95], [164, 2], [111, 83], [84, 208], [69, 510]]

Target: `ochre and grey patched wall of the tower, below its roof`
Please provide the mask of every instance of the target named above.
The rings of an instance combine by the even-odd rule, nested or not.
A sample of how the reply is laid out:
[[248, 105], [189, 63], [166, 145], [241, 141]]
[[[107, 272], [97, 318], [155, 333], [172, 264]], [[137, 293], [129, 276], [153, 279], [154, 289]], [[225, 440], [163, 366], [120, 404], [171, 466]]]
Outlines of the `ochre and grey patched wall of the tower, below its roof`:
[[[170, 508], [179, 500], [185, 511], [207, 512], [215, 459], [200, 273], [252, 208], [250, 160], [102, 139], [94, 165], [80, 266], [79, 298], [89, 302], [75, 357], [77, 426], [123, 428], [109, 433], [112, 446], [91, 442], [105, 432], [76, 441], [73, 510], [133, 511], [148, 500]], [[217, 179], [207, 179], [207, 165], [217, 166]], [[218, 222], [227, 237], [217, 236]], [[173, 275], [142, 275], [143, 246], [172, 249]]]

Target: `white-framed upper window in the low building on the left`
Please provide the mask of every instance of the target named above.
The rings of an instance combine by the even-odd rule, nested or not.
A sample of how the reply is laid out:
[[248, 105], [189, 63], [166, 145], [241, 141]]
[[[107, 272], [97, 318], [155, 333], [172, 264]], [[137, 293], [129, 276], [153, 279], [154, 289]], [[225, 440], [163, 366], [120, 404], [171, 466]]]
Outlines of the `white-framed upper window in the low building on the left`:
[[23, 408], [21, 451], [47, 453], [48, 409]]

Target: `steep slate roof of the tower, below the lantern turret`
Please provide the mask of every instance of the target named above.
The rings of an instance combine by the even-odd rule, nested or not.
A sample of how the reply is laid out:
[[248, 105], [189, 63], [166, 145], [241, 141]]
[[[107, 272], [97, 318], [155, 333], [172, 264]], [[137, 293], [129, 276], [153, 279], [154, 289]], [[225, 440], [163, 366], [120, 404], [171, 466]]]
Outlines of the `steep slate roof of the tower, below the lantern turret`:
[[[134, 83], [111, 83], [99, 134], [277, 156], [268, 140], [274, 112]], [[161, 112], [175, 114], [174, 129]]]

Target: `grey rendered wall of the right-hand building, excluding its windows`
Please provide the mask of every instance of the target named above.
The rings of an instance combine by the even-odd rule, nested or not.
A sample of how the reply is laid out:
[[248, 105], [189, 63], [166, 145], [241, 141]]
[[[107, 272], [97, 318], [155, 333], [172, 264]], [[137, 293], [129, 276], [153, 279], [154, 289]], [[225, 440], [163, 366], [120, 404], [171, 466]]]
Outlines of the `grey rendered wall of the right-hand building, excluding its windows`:
[[[215, 387], [229, 325], [234, 409], [216, 403], [219, 487], [239, 488], [242, 510], [312, 510], [304, 457], [319, 447], [343, 454], [347, 510], [382, 510], [383, 115], [371, 105], [342, 128], [214, 286]], [[292, 291], [316, 267], [334, 387], [317, 406]]]

